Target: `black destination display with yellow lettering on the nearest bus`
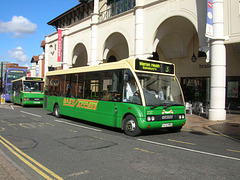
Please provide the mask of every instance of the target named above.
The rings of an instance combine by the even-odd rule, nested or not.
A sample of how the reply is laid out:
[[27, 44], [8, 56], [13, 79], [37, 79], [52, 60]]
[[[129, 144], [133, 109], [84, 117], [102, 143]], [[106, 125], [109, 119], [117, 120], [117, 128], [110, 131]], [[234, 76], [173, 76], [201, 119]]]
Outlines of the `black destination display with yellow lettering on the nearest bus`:
[[135, 68], [141, 71], [174, 74], [174, 67], [171, 64], [149, 62], [139, 59], [136, 59]]

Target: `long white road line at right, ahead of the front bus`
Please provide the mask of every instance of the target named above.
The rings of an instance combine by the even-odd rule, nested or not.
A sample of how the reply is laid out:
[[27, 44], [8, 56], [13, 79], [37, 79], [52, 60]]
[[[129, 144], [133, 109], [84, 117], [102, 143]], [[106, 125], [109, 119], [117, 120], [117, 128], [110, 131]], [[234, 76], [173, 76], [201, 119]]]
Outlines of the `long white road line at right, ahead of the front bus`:
[[179, 147], [179, 146], [173, 146], [173, 145], [170, 145], [170, 144], [163, 144], [163, 143], [159, 143], [159, 142], [148, 141], [148, 140], [145, 140], [145, 139], [137, 139], [137, 140], [142, 141], [142, 142], [146, 142], [146, 143], [150, 143], [150, 144], [155, 144], [155, 145], [160, 145], [160, 146], [165, 146], [165, 147], [170, 147], [170, 148], [175, 148], [175, 149], [181, 149], [181, 150], [184, 150], [184, 151], [190, 151], [190, 152], [194, 152], [194, 153], [205, 154], [205, 155], [209, 155], [209, 156], [215, 156], [215, 157], [240, 161], [239, 158], [234, 158], [234, 157], [230, 157], [230, 156], [213, 154], [213, 153], [208, 153], [208, 152], [204, 152], [204, 151], [198, 151], [198, 150], [183, 148], [183, 147]]

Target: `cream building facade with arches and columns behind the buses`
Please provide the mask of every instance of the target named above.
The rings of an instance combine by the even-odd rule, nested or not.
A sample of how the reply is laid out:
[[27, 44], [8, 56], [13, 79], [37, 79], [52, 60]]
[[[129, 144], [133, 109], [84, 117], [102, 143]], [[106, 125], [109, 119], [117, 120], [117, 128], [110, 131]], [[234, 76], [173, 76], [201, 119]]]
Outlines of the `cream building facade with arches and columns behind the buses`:
[[205, 36], [208, 0], [79, 1], [48, 22], [56, 32], [45, 39], [45, 72], [128, 57], [159, 59], [176, 64], [186, 101], [210, 103], [209, 119], [224, 120], [227, 104], [239, 108], [239, 0], [213, 0], [212, 39]]

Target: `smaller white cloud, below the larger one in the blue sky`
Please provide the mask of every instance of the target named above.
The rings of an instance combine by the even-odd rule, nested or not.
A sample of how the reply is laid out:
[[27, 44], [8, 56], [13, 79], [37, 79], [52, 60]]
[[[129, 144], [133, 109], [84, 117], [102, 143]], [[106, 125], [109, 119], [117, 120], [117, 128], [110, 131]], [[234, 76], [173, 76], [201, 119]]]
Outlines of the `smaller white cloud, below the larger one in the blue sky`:
[[9, 58], [18, 61], [18, 62], [27, 62], [29, 61], [28, 56], [25, 54], [22, 47], [17, 47], [11, 50], [8, 50]]

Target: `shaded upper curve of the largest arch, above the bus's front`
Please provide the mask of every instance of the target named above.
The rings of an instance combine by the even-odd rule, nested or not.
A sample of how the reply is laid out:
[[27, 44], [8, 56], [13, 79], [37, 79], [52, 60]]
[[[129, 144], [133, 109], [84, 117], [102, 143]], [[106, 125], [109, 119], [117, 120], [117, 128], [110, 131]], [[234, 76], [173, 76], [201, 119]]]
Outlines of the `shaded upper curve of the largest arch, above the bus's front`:
[[153, 52], [160, 60], [188, 59], [198, 55], [198, 34], [192, 22], [185, 17], [166, 19], [157, 29]]

